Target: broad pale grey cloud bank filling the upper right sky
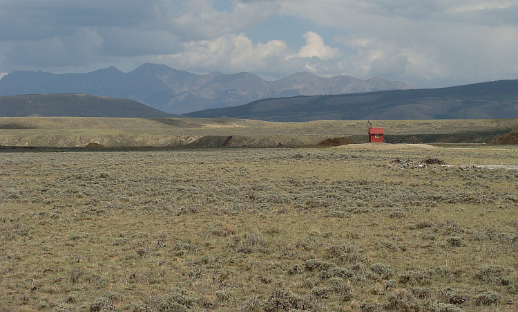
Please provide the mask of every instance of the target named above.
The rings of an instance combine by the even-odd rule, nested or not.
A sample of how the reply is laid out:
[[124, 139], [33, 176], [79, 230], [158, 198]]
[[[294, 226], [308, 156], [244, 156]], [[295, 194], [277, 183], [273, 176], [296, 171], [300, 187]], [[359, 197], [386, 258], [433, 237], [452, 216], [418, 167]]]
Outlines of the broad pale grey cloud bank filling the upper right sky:
[[[331, 28], [338, 71], [416, 86], [518, 77], [516, 0], [282, 0], [280, 12]], [[405, 61], [406, 60], [406, 61]]]

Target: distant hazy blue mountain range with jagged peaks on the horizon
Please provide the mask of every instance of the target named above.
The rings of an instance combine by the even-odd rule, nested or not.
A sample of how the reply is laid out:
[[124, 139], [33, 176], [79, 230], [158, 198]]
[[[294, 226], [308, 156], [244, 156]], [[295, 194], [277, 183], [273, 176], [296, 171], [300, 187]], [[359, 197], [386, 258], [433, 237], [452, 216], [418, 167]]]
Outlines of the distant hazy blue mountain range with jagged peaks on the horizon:
[[405, 82], [340, 75], [296, 73], [275, 81], [252, 73], [197, 75], [146, 63], [123, 73], [114, 66], [91, 73], [53, 74], [15, 71], [0, 79], [0, 95], [85, 93], [141, 102], [168, 113], [234, 107], [265, 98], [413, 89]]

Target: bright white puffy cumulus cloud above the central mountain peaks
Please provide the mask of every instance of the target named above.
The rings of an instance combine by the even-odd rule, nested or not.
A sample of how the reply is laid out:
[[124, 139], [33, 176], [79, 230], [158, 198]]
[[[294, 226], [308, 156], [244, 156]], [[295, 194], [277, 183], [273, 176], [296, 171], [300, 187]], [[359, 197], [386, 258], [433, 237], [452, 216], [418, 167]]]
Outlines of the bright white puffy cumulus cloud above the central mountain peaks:
[[326, 46], [318, 33], [308, 32], [303, 37], [306, 45], [298, 53], [293, 53], [282, 40], [253, 44], [249, 37], [240, 33], [212, 40], [194, 40], [184, 44], [182, 53], [161, 55], [158, 59], [165, 64], [182, 64], [197, 71], [204, 71], [204, 68], [225, 73], [249, 71], [272, 78], [299, 71], [325, 73], [336, 67], [334, 58], [340, 55], [339, 49]]

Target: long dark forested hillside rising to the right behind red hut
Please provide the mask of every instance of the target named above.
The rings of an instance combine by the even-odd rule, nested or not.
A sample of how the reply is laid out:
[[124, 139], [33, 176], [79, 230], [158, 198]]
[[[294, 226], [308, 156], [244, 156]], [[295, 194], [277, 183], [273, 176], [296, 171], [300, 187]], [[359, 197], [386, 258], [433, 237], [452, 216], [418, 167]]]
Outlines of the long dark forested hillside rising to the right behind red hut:
[[269, 121], [518, 118], [518, 80], [441, 89], [276, 98], [185, 115]]

